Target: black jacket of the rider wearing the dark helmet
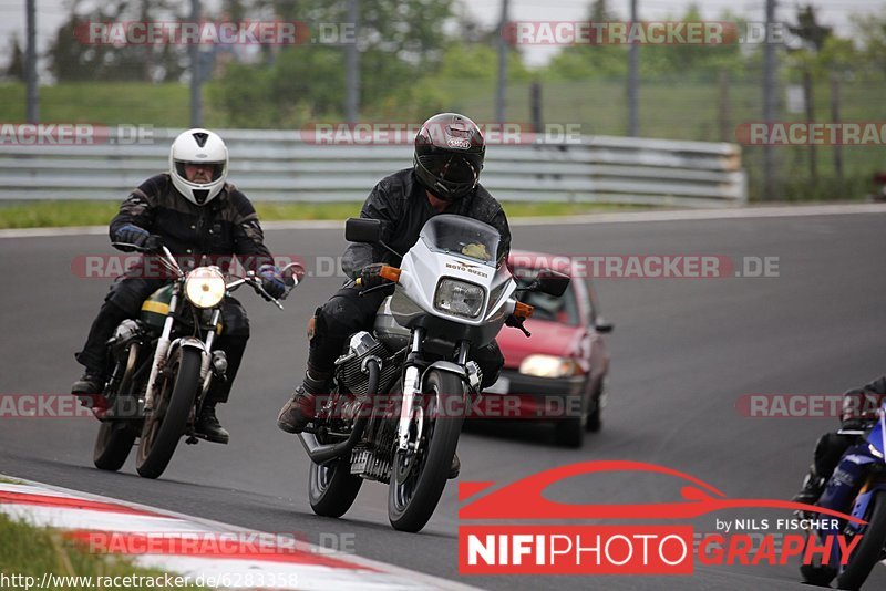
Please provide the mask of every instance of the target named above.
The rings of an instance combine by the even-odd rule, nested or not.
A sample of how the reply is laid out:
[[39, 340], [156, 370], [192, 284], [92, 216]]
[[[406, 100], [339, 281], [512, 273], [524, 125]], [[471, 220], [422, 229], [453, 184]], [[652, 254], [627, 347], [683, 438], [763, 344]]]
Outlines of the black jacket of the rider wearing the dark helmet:
[[[443, 214], [466, 216], [486, 222], [501, 234], [496, 260], [507, 259], [511, 252], [511, 228], [502, 205], [477, 185], [473, 193], [451, 204]], [[398, 252], [405, 252], [418, 240], [424, 222], [436, 216], [424, 187], [419, 184], [412, 168], [405, 168], [381, 179], [363, 204], [360, 217], [379, 219], [382, 222], [381, 239]], [[344, 274], [354, 278], [372, 262], [384, 262], [398, 267], [400, 257], [380, 246], [350, 243], [344, 251], [341, 267]]]

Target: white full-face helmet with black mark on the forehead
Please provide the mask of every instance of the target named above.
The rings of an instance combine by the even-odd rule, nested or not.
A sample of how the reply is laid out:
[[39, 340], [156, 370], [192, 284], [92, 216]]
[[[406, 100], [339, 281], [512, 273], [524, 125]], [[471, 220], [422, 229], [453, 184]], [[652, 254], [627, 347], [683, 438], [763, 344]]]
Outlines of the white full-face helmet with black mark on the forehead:
[[[212, 164], [207, 183], [194, 183], [185, 175], [186, 164]], [[228, 148], [225, 142], [208, 129], [195, 128], [181, 134], [169, 149], [169, 175], [178, 193], [196, 205], [212, 201], [225, 186], [228, 176]]]

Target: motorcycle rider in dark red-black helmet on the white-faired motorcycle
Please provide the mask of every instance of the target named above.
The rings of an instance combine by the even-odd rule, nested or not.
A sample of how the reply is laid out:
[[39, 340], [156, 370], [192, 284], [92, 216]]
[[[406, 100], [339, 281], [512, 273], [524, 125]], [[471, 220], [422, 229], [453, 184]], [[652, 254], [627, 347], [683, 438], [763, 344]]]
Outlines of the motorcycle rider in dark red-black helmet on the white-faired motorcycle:
[[[415, 136], [413, 166], [394, 173], [372, 189], [360, 217], [381, 220], [381, 239], [392, 250], [406, 252], [419, 239], [424, 222], [437, 214], [455, 214], [484, 221], [501, 234], [496, 253], [505, 263], [511, 250], [511, 229], [502, 206], [478, 183], [485, 142], [470, 118], [442, 113], [427, 120]], [[353, 279], [317, 309], [303, 383], [280, 409], [277, 425], [287, 433], [300, 433], [316, 412], [318, 394], [328, 392], [334, 361], [354, 332], [371, 331], [375, 313], [390, 290], [360, 297], [361, 288], [381, 284], [382, 265], [399, 266], [400, 257], [381, 246], [351, 243], [344, 251], [342, 269]], [[356, 280], [360, 280], [357, 286]], [[483, 372], [482, 387], [498, 377], [504, 357], [493, 341], [472, 351]], [[457, 476], [457, 457], [451, 477]]]

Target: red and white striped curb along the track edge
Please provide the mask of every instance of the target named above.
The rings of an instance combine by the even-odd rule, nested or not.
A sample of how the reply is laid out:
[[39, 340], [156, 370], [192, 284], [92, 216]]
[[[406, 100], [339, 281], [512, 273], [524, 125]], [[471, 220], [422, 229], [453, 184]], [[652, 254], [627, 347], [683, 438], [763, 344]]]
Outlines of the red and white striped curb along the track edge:
[[[0, 512], [216, 589], [472, 589], [295, 539], [10, 477]], [[208, 584], [215, 581], [213, 584]]]

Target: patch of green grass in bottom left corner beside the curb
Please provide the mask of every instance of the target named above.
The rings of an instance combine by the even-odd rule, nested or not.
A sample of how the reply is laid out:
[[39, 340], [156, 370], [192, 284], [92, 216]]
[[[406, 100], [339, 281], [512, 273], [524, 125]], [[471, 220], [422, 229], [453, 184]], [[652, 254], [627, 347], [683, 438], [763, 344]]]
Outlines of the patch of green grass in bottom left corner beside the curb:
[[[42, 581], [43, 573], [58, 577], [158, 577], [163, 571], [134, 567], [131, 561], [116, 556], [90, 553], [89, 548], [65, 538], [58, 530], [37, 528], [28, 523], [13, 521], [0, 514], [0, 574], [11, 577], [20, 574], [33, 577], [35, 589]], [[21, 581], [21, 579], [19, 579]], [[93, 580], [93, 583], [95, 581]], [[9, 581], [10, 589], [13, 581]], [[17, 587], [23, 588], [21, 584]], [[71, 584], [53, 587], [65, 591], [86, 591], [99, 589], [96, 584], [85, 587]], [[156, 589], [155, 587], [130, 587], [128, 589]], [[178, 588], [183, 589], [183, 588]], [[187, 587], [185, 589], [204, 589]]]

